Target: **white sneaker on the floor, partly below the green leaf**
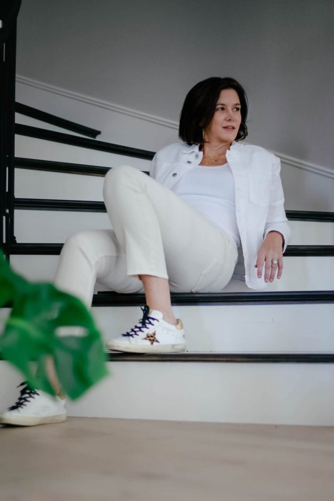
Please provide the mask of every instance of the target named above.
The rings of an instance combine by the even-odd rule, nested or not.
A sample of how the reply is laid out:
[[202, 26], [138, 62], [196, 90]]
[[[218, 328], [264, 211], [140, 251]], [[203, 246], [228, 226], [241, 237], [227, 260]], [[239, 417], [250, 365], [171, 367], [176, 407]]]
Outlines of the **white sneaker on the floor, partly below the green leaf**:
[[52, 397], [42, 390], [30, 388], [26, 382], [17, 402], [0, 414], [0, 424], [36, 426], [37, 424], [66, 421], [65, 395]]

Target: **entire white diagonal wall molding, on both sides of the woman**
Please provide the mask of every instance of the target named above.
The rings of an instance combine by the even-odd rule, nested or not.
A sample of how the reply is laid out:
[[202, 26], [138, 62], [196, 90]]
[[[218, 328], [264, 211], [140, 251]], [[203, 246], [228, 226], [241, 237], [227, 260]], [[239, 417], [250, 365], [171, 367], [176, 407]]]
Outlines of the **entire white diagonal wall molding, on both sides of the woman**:
[[[58, 94], [60, 96], [68, 97], [70, 99], [75, 99], [83, 103], [91, 104], [93, 106], [98, 106], [110, 111], [115, 111], [116, 113], [121, 113], [123, 115], [129, 115], [131, 117], [139, 118], [140, 120], [146, 120], [147, 122], [152, 122], [164, 127], [169, 127], [170, 129], [178, 129], [178, 122], [173, 120], [166, 120], [162, 117], [157, 117], [155, 115], [149, 115], [141, 111], [132, 110], [131, 108], [126, 108], [124, 106], [119, 106], [118, 104], [109, 103], [108, 101], [102, 101], [100, 99], [92, 98], [79, 94], [77, 92], [67, 91], [66, 89], [61, 89], [60, 87], [55, 87], [54, 85], [45, 84], [44, 82], [39, 82], [38, 80], [32, 80], [31, 78], [24, 77], [23, 75], [17, 75], [16, 81], [24, 85], [29, 85], [37, 89], [41, 89], [46, 92], [51, 92], [53, 94]], [[278, 153], [276, 151], [271, 151], [274, 155], [280, 158], [281, 162], [297, 169], [306, 170], [308, 172], [313, 172], [313, 174], [319, 174], [321, 176], [329, 177], [334, 179], [334, 170], [328, 167], [322, 167], [321, 165], [316, 165], [314, 163], [306, 162], [305, 160], [299, 160], [298, 158], [290, 157], [284, 155], [283, 153]]]

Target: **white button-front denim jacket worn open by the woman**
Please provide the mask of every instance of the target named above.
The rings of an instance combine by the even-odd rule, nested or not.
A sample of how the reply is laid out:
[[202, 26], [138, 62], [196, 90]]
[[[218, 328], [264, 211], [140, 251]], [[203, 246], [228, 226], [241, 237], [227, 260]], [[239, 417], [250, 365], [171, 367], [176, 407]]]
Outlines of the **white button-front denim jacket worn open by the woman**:
[[[202, 157], [196, 144], [170, 144], [155, 154], [150, 176], [171, 188], [185, 172], [198, 165]], [[267, 286], [264, 270], [259, 279], [254, 265], [264, 238], [269, 231], [279, 231], [284, 237], [283, 252], [290, 239], [279, 176], [280, 160], [259, 146], [236, 141], [232, 142], [226, 159], [234, 178], [236, 220], [241, 239], [232, 278], [245, 280], [250, 289], [262, 289]]]

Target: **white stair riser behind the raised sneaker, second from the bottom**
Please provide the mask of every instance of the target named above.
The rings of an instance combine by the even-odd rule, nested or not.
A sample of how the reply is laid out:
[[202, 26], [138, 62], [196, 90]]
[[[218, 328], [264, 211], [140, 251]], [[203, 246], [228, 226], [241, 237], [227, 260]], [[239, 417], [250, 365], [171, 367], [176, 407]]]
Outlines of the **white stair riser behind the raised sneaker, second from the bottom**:
[[[129, 331], [142, 316], [139, 307], [92, 312], [105, 340]], [[175, 306], [174, 313], [189, 352], [334, 353], [334, 305]]]

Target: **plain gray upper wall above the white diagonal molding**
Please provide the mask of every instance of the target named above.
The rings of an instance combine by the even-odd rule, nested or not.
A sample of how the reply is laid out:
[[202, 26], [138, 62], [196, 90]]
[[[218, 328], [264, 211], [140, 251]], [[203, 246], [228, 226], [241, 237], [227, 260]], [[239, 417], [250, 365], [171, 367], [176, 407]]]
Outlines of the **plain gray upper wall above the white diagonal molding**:
[[23, 0], [17, 71], [178, 120], [189, 88], [232, 76], [248, 142], [334, 168], [331, 0]]

